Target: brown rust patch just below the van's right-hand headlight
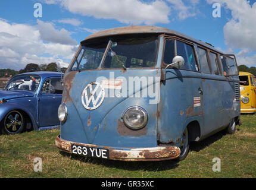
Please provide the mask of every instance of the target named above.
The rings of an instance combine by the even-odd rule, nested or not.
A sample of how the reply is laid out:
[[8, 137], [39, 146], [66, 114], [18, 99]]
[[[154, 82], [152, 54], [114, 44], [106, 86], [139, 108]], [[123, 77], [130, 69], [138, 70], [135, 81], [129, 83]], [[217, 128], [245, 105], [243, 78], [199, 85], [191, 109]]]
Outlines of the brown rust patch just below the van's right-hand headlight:
[[144, 127], [142, 129], [135, 131], [127, 128], [127, 126], [124, 125], [124, 123], [120, 119], [118, 119], [117, 131], [118, 131], [118, 134], [120, 134], [121, 136], [140, 137], [147, 134], [148, 128]]

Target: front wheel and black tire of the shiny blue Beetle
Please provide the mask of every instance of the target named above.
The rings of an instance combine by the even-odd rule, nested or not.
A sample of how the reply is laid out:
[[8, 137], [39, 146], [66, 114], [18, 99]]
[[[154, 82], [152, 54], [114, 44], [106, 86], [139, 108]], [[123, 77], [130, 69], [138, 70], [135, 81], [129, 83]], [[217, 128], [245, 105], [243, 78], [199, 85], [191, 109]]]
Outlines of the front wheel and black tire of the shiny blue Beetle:
[[1, 122], [1, 132], [6, 135], [20, 134], [25, 126], [24, 115], [13, 110], [9, 112]]

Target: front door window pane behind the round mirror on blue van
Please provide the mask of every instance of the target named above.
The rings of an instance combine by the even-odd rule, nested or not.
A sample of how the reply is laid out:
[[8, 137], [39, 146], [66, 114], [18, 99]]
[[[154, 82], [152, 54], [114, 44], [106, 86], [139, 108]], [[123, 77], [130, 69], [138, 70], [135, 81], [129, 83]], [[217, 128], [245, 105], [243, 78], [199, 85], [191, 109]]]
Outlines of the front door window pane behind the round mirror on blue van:
[[182, 56], [185, 60], [185, 65], [181, 69], [198, 71], [193, 46], [177, 40], [177, 55]]

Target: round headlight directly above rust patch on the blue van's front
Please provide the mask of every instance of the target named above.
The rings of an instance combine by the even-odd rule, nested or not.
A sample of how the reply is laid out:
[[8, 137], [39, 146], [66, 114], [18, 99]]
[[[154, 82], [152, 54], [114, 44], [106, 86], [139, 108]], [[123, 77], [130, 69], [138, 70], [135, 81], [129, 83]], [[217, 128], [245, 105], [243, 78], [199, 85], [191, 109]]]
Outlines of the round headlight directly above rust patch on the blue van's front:
[[148, 113], [139, 106], [129, 107], [123, 113], [123, 121], [130, 129], [141, 129], [148, 122]]

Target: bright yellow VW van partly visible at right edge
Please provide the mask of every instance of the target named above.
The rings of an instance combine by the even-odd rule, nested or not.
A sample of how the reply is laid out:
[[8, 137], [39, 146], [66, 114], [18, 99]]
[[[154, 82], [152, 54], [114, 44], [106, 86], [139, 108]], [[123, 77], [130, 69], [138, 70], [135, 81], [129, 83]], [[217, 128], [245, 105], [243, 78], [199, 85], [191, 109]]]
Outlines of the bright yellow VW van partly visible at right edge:
[[256, 78], [249, 72], [239, 72], [241, 113], [256, 112]]

